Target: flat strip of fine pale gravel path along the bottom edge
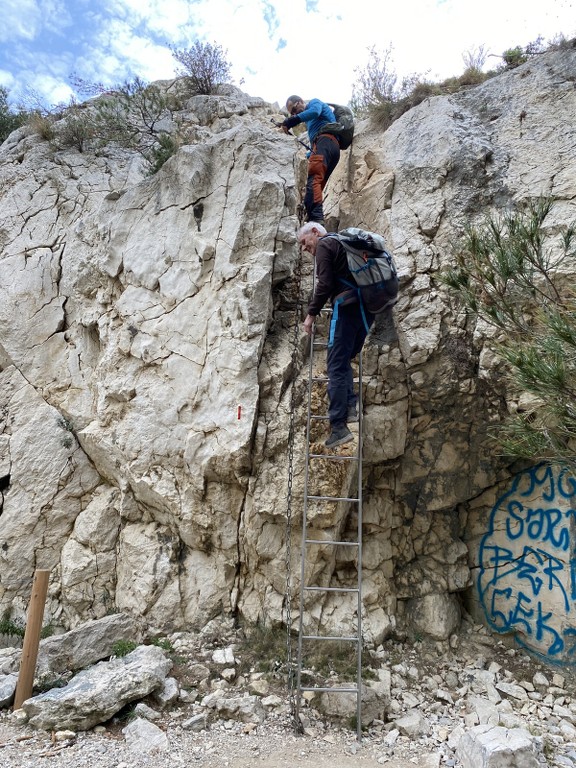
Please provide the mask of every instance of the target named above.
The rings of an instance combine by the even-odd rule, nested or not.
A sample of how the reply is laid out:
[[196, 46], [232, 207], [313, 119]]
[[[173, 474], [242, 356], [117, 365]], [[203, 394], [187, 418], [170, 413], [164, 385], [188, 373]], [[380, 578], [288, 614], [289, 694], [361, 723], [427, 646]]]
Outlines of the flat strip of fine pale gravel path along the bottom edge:
[[[228, 726], [228, 724], [226, 724]], [[434, 768], [431, 755], [384, 759], [381, 739], [370, 736], [358, 743], [354, 734], [338, 728], [299, 736], [290, 719], [270, 718], [251, 732], [238, 724], [215, 725], [191, 733], [178, 725], [166, 728], [169, 746], [163, 751], [139, 752], [129, 747], [119, 729], [80, 733], [75, 739], [55, 741], [50, 734], [30, 731], [0, 720], [0, 766], [2, 768]], [[165, 727], [161, 724], [161, 727]]]

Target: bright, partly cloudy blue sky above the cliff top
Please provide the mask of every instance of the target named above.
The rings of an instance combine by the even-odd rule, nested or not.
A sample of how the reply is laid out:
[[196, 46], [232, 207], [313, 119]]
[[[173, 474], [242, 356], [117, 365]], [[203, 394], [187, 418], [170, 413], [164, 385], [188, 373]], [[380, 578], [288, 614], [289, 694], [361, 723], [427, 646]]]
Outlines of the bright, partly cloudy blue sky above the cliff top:
[[576, 0], [0, 0], [0, 85], [14, 106], [86, 98], [71, 76], [114, 86], [175, 75], [170, 46], [220, 46], [235, 85], [283, 106], [347, 104], [374, 48], [390, 69], [438, 82], [465, 56], [539, 36], [576, 37]]

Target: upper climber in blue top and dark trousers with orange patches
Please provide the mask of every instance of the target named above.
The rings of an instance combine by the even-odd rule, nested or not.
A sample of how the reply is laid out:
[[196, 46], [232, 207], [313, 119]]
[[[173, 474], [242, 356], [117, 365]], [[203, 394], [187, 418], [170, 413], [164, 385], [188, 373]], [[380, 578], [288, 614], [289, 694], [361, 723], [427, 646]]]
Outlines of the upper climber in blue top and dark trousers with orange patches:
[[335, 123], [332, 109], [320, 99], [304, 102], [300, 96], [290, 96], [286, 101], [290, 117], [282, 123], [284, 133], [289, 133], [298, 123], [306, 123], [308, 138], [312, 145], [308, 157], [308, 178], [304, 194], [304, 207], [308, 221], [324, 224], [322, 193], [330, 174], [340, 160], [340, 144], [330, 133], [322, 133], [322, 126]]

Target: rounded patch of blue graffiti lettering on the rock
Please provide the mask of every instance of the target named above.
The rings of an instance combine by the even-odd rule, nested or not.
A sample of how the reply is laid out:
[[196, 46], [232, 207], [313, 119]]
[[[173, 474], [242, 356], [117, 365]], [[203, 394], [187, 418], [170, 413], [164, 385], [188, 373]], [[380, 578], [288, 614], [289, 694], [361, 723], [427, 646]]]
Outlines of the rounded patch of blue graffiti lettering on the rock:
[[[576, 664], [576, 479], [539, 465], [494, 505], [479, 549], [488, 624], [549, 661]], [[553, 606], [553, 607], [552, 607]]]

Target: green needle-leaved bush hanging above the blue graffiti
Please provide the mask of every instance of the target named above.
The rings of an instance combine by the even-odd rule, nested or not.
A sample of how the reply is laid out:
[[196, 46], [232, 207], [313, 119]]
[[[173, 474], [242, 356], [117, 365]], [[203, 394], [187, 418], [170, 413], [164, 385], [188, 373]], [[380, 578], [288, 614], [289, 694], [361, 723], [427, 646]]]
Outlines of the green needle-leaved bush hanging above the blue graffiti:
[[576, 229], [546, 235], [552, 205], [538, 199], [468, 228], [456, 266], [440, 280], [492, 326], [511, 386], [530, 396], [498, 428], [503, 453], [575, 465]]

